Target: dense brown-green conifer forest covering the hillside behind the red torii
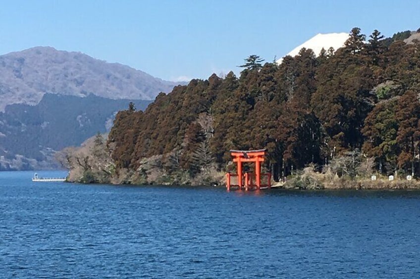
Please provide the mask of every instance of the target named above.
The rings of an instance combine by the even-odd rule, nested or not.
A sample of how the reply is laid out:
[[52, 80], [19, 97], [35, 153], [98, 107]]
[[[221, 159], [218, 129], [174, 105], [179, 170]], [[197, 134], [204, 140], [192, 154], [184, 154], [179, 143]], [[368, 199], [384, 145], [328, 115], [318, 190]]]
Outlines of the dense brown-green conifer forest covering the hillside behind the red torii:
[[[230, 149], [262, 149], [274, 180], [307, 165], [338, 175], [420, 172], [420, 42], [410, 33], [368, 37], [343, 48], [303, 48], [280, 65], [251, 55], [240, 77], [191, 80], [143, 111], [117, 114], [107, 147], [115, 172], [195, 177], [233, 167]], [[158, 158], [158, 159], [156, 159]], [[368, 171], [368, 170], [366, 170]]]

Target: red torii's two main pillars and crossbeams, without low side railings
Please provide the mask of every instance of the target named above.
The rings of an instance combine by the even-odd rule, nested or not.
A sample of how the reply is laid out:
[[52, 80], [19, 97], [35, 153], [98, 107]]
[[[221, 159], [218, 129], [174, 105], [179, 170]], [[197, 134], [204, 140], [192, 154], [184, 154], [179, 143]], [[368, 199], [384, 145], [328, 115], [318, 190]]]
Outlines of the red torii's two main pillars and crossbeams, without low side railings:
[[230, 150], [230, 154], [234, 157], [233, 161], [236, 162], [238, 171], [238, 185], [242, 188], [242, 163], [255, 162], [255, 180], [257, 189], [261, 188], [261, 162], [264, 161], [266, 149], [259, 150]]

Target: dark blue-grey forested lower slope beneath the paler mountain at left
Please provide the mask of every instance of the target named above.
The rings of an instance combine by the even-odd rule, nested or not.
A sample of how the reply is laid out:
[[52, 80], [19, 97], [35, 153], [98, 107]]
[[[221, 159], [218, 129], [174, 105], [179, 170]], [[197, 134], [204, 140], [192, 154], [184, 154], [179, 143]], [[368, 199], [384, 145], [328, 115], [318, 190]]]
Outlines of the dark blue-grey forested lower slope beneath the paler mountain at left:
[[45, 94], [35, 106], [7, 105], [0, 112], [0, 170], [57, 168], [55, 151], [109, 131], [129, 102], [145, 110], [151, 101]]

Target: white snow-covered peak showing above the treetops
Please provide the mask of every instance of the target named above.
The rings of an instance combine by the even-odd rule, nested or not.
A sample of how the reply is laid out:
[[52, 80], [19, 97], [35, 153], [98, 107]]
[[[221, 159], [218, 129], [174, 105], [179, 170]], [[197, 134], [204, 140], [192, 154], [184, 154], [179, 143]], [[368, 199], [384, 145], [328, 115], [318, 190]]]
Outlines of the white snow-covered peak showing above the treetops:
[[[344, 42], [349, 39], [350, 35], [348, 33], [328, 33], [328, 34], [317, 34], [315, 37], [307, 40], [306, 42], [302, 43], [301, 45], [294, 48], [292, 51], [287, 53], [286, 55], [290, 55], [292, 57], [299, 54], [299, 51], [305, 47], [307, 49], [312, 49], [316, 56], [319, 55], [321, 49], [324, 48], [328, 50], [328, 48], [333, 47], [334, 50], [337, 50], [340, 47], [344, 46]], [[286, 56], [285, 55], [285, 56]], [[283, 61], [283, 58], [278, 59], [276, 62], [280, 64]]]

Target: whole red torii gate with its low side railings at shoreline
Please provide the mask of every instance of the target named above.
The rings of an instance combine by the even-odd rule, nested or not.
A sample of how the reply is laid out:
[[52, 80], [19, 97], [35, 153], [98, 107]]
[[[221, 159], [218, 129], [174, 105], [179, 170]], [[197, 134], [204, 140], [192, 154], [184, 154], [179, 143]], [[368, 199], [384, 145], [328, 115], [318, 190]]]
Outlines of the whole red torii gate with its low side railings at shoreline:
[[[231, 184], [231, 176], [230, 173], [226, 174], [226, 187], [227, 190], [230, 190], [231, 186], [239, 186], [239, 189], [242, 189], [242, 186], [244, 186], [244, 181], [242, 180], [243, 174], [242, 174], [242, 163], [243, 162], [255, 162], [255, 180], [256, 184], [253, 183], [253, 174], [252, 173], [245, 173], [245, 190], [251, 190], [254, 186], [257, 187], [257, 189], [261, 189], [261, 186], [266, 186], [267, 188], [271, 188], [270, 180], [271, 180], [271, 174], [261, 173], [261, 163], [264, 161], [264, 155], [266, 153], [266, 149], [259, 149], [259, 150], [230, 150], [230, 154], [234, 157], [233, 161], [237, 164], [237, 177], [238, 177], [238, 185], [232, 185]], [[261, 184], [261, 176], [267, 176], [267, 184], [262, 185]]]

